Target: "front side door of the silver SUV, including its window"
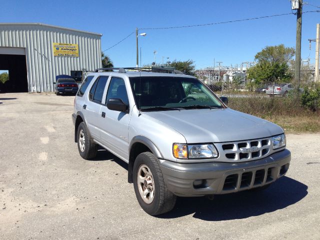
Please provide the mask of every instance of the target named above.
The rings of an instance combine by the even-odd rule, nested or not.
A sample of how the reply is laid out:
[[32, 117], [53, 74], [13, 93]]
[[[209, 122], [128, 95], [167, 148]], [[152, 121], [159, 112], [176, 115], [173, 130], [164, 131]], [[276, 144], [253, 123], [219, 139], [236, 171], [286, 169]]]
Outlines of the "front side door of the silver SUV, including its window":
[[124, 159], [128, 159], [128, 125], [131, 112], [110, 110], [107, 108], [106, 103], [110, 98], [120, 98], [124, 103], [129, 105], [128, 87], [126, 87], [124, 79], [111, 77], [106, 92], [105, 104], [101, 105], [100, 108], [98, 123], [101, 129], [101, 143]]

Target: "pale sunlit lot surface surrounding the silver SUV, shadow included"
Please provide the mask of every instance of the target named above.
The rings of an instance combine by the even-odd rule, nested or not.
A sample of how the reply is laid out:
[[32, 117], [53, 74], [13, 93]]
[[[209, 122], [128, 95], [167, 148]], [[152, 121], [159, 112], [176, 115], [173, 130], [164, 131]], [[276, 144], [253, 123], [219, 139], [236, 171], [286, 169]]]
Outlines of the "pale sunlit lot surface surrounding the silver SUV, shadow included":
[[73, 142], [73, 96], [0, 94], [0, 239], [320, 239], [320, 134], [288, 134], [286, 176], [263, 192], [178, 198], [152, 217], [127, 165]]

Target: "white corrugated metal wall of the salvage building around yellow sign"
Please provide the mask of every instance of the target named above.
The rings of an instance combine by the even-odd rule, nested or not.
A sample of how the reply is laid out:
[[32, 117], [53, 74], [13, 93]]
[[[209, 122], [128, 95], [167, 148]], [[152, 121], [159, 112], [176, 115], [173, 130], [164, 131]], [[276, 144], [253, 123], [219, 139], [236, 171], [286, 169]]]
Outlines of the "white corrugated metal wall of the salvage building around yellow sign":
[[[0, 24], [0, 46], [25, 47], [29, 92], [53, 91], [56, 75], [101, 67], [100, 41], [97, 34], [41, 24]], [[78, 44], [79, 56], [53, 56], [53, 42]]]

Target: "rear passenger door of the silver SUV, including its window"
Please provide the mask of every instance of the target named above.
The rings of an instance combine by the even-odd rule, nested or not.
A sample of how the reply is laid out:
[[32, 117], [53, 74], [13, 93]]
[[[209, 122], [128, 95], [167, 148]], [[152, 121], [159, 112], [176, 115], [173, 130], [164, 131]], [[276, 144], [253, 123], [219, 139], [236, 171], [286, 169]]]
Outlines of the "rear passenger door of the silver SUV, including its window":
[[92, 84], [88, 93], [88, 101], [82, 106], [84, 118], [91, 136], [99, 140], [100, 129], [98, 127], [99, 113], [102, 106], [102, 97], [108, 76], [99, 76]]

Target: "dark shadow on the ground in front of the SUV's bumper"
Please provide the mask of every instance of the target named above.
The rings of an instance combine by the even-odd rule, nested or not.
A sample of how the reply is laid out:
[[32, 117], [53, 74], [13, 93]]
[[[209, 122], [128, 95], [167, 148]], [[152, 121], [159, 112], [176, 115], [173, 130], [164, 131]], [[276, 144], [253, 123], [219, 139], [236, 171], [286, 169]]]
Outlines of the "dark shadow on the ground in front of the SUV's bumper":
[[307, 195], [307, 186], [283, 176], [261, 191], [242, 191], [205, 197], [178, 197], [172, 211], [159, 218], [176, 218], [191, 213], [206, 221], [242, 219], [276, 211], [292, 205]]

